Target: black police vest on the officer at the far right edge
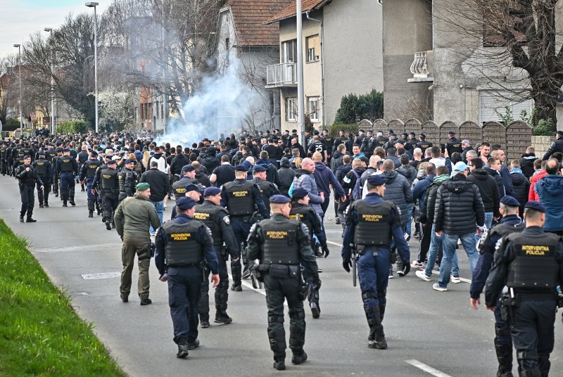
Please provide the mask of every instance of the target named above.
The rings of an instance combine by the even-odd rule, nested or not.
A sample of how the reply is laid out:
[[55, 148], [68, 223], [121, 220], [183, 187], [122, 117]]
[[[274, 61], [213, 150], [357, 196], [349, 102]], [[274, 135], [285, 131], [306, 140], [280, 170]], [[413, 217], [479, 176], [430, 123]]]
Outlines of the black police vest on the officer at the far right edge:
[[513, 233], [510, 241], [514, 260], [508, 265], [506, 285], [510, 288], [543, 289], [557, 286], [559, 264], [555, 259], [559, 236], [550, 233]]

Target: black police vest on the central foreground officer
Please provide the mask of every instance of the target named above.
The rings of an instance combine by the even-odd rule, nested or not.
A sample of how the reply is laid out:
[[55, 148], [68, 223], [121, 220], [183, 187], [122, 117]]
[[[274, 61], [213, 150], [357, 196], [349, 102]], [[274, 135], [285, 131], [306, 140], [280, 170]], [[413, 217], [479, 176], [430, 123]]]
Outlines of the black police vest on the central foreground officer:
[[287, 219], [283, 223], [272, 219], [258, 223], [264, 234], [262, 262], [265, 264], [300, 264], [301, 254], [297, 242], [299, 223]]

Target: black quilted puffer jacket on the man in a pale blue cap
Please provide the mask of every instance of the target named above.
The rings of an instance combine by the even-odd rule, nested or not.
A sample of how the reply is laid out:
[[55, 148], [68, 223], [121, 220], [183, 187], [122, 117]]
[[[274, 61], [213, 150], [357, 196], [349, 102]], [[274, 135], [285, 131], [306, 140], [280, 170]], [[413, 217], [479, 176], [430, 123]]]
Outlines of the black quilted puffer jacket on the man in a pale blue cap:
[[485, 224], [485, 210], [479, 188], [464, 174], [455, 174], [443, 182], [436, 193], [434, 226], [445, 234], [475, 233], [476, 225]]

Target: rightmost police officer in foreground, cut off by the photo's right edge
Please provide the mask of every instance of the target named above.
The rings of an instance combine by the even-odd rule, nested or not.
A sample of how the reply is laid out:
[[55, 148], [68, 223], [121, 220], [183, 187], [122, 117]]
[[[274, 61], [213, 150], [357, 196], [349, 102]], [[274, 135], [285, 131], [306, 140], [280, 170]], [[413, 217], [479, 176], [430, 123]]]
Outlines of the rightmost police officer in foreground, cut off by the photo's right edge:
[[[485, 303], [499, 305], [511, 324], [521, 377], [548, 376], [553, 350], [557, 285], [563, 284], [563, 242], [544, 233], [545, 207], [529, 201], [524, 207], [526, 228], [502, 238], [486, 281]], [[508, 314], [508, 315], [507, 315]]]

